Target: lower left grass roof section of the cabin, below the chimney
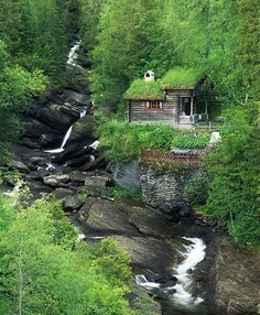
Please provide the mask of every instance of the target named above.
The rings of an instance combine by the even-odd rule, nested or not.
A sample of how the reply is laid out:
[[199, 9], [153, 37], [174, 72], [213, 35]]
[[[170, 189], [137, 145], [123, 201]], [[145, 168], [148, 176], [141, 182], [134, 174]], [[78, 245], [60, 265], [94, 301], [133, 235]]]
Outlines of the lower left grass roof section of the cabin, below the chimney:
[[139, 100], [163, 100], [164, 94], [161, 89], [161, 82], [145, 82], [144, 79], [136, 79], [130, 88], [124, 93], [124, 99], [139, 99]]

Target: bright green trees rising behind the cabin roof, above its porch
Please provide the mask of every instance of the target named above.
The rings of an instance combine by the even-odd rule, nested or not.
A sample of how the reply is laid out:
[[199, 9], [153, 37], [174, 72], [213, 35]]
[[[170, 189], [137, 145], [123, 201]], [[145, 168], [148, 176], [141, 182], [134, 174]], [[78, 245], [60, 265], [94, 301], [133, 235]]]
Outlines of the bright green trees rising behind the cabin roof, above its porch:
[[253, 0], [82, 0], [96, 101], [115, 106], [144, 70], [161, 77], [180, 65], [205, 69], [218, 107], [241, 102], [249, 86], [259, 86], [257, 6]]

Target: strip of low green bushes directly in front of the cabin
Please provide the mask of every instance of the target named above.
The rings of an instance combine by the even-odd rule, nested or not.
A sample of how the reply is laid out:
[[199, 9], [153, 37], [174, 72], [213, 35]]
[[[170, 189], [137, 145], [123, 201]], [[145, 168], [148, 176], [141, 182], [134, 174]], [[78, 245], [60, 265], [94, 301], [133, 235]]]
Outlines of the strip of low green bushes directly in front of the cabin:
[[108, 159], [122, 162], [139, 159], [141, 149], [201, 149], [209, 140], [208, 133], [185, 133], [165, 124], [130, 124], [117, 121], [99, 126], [97, 135], [101, 148], [108, 151]]

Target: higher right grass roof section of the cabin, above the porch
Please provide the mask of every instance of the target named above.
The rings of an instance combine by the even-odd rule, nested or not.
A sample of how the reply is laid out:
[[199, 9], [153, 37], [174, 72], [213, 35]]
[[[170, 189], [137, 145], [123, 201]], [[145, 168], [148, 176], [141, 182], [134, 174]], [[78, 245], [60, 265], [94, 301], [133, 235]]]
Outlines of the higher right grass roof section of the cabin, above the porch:
[[194, 68], [176, 67], [169, 70], [161, 80], [161, 88], [194, 88], [202, 79], [203, 72]]

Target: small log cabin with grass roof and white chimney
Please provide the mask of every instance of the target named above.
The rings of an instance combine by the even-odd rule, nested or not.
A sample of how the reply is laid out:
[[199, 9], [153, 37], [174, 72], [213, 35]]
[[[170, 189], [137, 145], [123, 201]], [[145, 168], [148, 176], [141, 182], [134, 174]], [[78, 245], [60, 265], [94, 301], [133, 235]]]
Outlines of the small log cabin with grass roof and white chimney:
[[129, 122], [192, 128], [207, 121], [207, 102], [199, 101], [202, 84], [203, 73], [191, 68], [174, 68], [160, 80], [147, 72], [144, 79], [134, 80], [124, 94]]

